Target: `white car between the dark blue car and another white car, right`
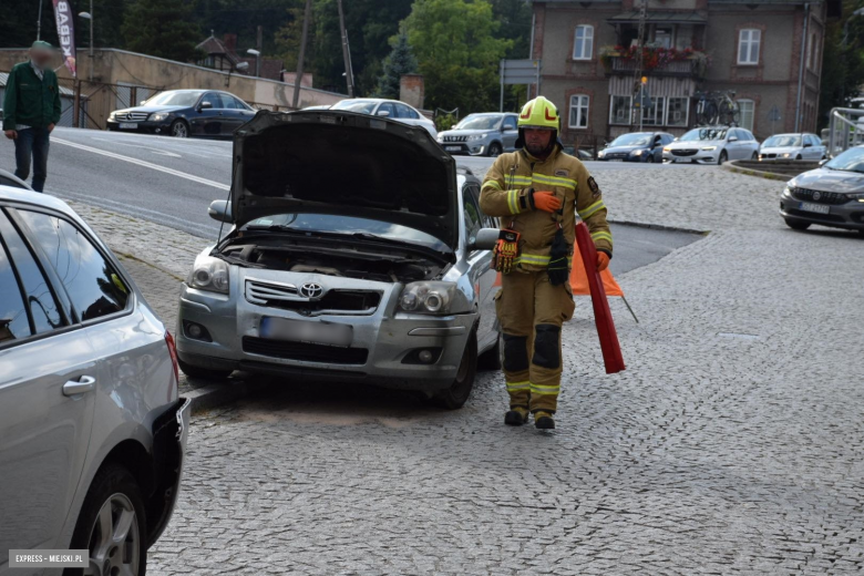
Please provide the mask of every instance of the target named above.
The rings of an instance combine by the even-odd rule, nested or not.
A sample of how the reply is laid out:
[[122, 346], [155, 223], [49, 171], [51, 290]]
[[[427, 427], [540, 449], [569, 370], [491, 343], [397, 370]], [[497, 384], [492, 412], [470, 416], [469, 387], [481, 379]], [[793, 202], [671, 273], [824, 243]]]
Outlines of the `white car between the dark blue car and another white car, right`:
[[744, 128], [703, 126], [664, 146], [664, 162], [722, 164], [730, 160], [758, 160], [759, 142]]

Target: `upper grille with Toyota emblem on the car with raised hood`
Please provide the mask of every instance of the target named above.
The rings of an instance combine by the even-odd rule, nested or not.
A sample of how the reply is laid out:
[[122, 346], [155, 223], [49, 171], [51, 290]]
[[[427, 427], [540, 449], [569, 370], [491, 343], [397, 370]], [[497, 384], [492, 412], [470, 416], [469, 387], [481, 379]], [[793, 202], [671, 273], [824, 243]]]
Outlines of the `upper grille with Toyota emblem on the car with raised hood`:
[[258, 306], [292, 310], [304, 316], [344, 315], [368, 316], [374, 313], [381, 302], [381, 292], [373, 290], [327, 291], [318, 300], [304, 298], [291, 284], [272, 284], [246, 280], [246, 300]]

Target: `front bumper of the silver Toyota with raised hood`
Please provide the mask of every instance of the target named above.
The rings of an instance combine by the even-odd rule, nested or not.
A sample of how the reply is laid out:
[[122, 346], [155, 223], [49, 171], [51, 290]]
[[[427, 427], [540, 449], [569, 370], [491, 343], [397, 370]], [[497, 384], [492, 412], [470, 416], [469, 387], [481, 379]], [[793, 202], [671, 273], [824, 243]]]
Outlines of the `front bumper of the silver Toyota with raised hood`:
[[[399, 292], [393, 289], [383, 295], [376, 312], [369, 316], [322, 315], [310, 319], [251, 304], [237, 289], [226, 297], [183, 285], [177, 354], [188, 364], [212, 370], [366, 382], [407, 390], [448, 388], [456, 377], [477, 315], [393, 313]], [[263, 339], [259, 326], [265, 316], [349, 325], [352, 343], [346, 349]], [[192, 338], [185, 329], [188, 322], [205, 327], [212, 341]], [[411, 354], [420, 350], [432, 351], [435, 360], [419, 363]]]

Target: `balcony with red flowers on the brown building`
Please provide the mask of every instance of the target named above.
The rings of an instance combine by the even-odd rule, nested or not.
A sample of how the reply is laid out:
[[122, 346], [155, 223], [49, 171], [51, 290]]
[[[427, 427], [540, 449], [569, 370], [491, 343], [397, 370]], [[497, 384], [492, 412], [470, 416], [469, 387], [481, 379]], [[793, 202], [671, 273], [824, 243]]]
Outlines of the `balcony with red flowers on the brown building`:
[[[606, 47], [600, 51], [600, 62], [606, 75], [632, 76], [639, 69], [639, 52], [636, 47]], [[701, 80], [710, 65], [704, 52], [692, 49], [650, 48], [642, 50], [642, 73], [651, 76], [689, 78]]]

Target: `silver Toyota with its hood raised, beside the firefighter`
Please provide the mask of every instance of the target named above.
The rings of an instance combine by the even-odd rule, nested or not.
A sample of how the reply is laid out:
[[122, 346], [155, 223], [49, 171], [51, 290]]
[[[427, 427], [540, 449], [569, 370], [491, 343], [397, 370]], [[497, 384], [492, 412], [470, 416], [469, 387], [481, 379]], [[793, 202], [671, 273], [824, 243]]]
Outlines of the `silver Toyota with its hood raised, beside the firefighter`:
[[234, 162], [230, 205], [210, 206], [234, 226], [182, 287], [181, 368], [464, 404], [498, 342], [480, 182], [421, 127], [333, 110], [259, 112]]

